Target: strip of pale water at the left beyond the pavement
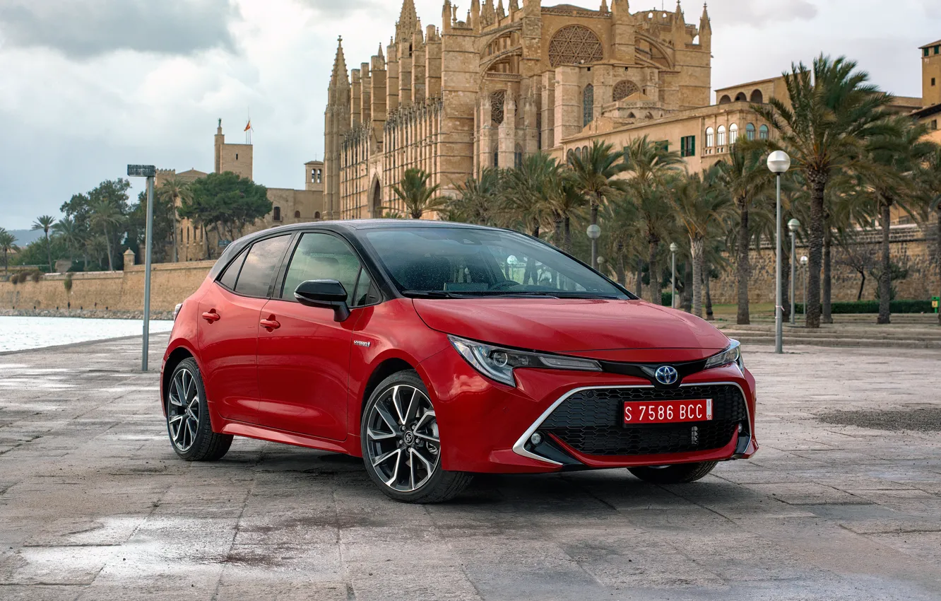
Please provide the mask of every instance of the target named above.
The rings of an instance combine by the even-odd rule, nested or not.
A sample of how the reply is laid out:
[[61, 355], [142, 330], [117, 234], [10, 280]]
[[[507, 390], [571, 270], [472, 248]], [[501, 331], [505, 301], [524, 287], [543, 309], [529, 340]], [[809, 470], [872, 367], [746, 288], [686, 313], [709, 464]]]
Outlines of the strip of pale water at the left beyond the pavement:
[[[0, 352], [140, 335], [143, 327], [136, 319], [0, 317]], [[169, 332], [172, 327], [172, 321], [151, 321], [151, 333]]]

